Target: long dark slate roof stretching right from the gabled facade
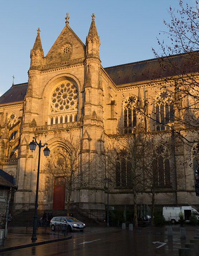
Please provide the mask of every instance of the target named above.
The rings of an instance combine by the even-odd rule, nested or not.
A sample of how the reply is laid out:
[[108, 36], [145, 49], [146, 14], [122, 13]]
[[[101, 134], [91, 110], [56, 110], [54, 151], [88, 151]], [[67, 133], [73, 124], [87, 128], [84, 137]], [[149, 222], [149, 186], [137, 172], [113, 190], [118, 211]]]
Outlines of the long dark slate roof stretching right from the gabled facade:
[[[142, 82], [183, 72], [198, 72], [198, 52], [192, 55], [173, 55], [170, 58], [150, 59], [105, 68], [116, 85]], [[196, 56], [197, 55], [197, 56]], [[173, 63], [173, 64], [170, 64]], [[178, 68], [175, 68], [177, 66]]]

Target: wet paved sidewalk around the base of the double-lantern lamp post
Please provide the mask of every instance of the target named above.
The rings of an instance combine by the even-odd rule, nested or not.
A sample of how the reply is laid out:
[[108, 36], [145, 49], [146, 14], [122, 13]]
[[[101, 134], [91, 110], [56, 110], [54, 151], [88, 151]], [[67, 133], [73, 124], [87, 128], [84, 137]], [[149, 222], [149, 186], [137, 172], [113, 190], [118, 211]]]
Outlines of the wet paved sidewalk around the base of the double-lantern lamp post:
[[71, 234], [65, 237], [63, 235], [58, 237], [58, 232], [53, 232], [49, 227], [39, 227], [37, 230], [37, 240], [33, 242], [31, 240], [32, 232], [33, 227], [8, 227], [8, 237], [0, 239], [0, 253], [72, 238]]

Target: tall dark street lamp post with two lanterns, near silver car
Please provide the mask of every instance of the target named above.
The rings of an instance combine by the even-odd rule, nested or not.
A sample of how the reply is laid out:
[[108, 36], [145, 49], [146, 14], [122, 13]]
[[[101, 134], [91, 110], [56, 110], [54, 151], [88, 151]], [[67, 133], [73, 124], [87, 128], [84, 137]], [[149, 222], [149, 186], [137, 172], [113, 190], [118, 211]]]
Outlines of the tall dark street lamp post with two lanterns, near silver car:
[[[35, 141], [34, 141], [35, 140]], [[39, 166], [40, 166], [40, 153], [41, 153], [41, 148], [44, 147], [46, 145], [46, 147], [44, 148], [44, 156], [47, 157], [50, 154], [50, 150], [47, 147], [48, 144], [45, 143], [42, 146], [41, 141], [39, 141], [39, 143], [37, 143], [35, 137], [33, 137], [33, 141], [30, 142], [29, 146], [30, 146], [30, 150], [33, 152], [35, 150], [35, 148], [37, 147], [37, 145], [39, 146], [39, 157], [38, 157], [38, 168], [37, 168], [37, 186], [36, 186], [36, 194], [35, 194], [35, 213], [34, 213], [34, 221], [33, 221], [33, 236], [32, 236], [32, 240], [37, 240], [37, 207], [38, 207], [38, 190], [39, 190]]]

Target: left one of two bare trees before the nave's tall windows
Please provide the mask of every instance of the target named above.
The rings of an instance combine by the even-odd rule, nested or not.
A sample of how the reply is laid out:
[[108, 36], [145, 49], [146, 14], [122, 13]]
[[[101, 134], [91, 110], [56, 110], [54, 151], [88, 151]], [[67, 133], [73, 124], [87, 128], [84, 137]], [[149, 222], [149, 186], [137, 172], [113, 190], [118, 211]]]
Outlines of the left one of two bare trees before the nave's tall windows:
[[134, 221], [137, 227], [137, 195], [144, 192], [144, 157], [149, 137], [143, 127], [134, 133], [114, 136], [106, 147], [106, 172], [115, 181], [116, 188], [128, 189], [134, 195]]

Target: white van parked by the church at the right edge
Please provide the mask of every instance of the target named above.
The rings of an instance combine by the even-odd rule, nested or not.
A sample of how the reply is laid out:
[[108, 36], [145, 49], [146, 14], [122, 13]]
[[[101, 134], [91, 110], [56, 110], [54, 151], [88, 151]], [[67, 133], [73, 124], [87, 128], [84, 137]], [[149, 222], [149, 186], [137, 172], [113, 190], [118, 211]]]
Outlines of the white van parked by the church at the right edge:
[[179, 220], [180, 211], [183, 212], [184, 218], [187, 222], [189, 222], [191, 211], [193, 211], [199, 219], [199, 213], [191, 206], [164, 206], [162, 215], [166, 221], [170, 220], [171, 223], [175, 224]]

